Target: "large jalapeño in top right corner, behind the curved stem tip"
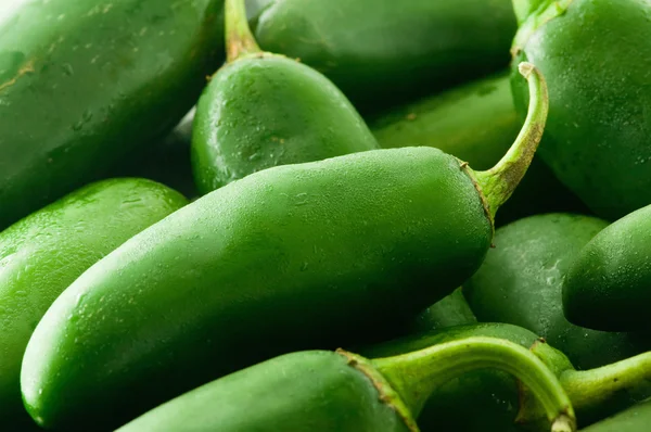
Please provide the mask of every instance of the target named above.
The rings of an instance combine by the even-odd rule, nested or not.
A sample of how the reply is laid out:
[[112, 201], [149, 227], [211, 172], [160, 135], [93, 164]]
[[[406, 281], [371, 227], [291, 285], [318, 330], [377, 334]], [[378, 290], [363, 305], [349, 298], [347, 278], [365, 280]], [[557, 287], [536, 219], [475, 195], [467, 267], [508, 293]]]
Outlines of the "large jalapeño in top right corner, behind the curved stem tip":
[[[514, 64], [532, 62], [550, 81], [542, 160], [608, 220], [651, 203], [649, 2], [514, 0], [514, 5], [520, 9]], [[526, 88], [513, 78], [516, 105], [524, 109]]]

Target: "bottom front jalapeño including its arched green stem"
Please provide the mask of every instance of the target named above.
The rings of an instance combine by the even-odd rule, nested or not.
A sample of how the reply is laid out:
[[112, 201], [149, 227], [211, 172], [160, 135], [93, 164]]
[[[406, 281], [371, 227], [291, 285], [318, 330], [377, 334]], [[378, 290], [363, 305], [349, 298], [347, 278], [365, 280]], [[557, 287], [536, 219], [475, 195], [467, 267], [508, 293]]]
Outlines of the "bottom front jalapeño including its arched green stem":
[[542, 361], [509, 341], [469, 338], [374, 360], [342, 350], [285, 354], [187, 393], [117, 432], [418, 432], [414, 417], [429, 394], [477, 368], [521, 379], [545, 406], [552, 431], [574, 430], [567, 396]]

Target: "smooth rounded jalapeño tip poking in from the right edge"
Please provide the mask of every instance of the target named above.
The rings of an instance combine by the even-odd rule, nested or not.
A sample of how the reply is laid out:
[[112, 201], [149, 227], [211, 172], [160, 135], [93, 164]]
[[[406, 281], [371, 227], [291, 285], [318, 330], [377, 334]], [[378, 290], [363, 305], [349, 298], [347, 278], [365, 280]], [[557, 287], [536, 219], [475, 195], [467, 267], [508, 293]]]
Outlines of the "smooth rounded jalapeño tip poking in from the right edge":
[[597, 234], [580, 251], [563, 283], [567, 319], [599, 330], [648, 330], [650, 246], [651, 205]]

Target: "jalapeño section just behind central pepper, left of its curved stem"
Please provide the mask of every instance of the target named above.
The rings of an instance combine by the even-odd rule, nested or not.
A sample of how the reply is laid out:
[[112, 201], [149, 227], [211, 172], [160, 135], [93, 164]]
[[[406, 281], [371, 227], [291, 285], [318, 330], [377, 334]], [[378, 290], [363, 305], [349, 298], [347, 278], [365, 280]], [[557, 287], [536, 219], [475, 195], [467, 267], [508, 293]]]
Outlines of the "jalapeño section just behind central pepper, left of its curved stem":
[[435, 147], [477, 169], [499, 161], [521, 124], [508, 71], [394, 106], [369, 120], [382, 148]]

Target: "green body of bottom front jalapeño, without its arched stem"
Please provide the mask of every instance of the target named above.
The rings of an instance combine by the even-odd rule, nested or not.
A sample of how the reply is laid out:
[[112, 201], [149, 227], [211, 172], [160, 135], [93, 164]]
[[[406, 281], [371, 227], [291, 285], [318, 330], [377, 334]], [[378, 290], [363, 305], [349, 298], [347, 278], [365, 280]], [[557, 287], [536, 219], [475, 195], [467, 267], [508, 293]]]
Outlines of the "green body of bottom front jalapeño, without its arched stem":
[[408, 432], [343, 355], [308, 351], [243, 369], [164, 404], [119, 432]]

